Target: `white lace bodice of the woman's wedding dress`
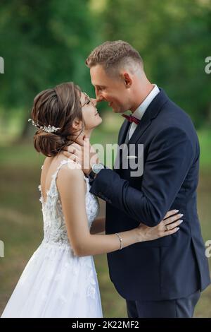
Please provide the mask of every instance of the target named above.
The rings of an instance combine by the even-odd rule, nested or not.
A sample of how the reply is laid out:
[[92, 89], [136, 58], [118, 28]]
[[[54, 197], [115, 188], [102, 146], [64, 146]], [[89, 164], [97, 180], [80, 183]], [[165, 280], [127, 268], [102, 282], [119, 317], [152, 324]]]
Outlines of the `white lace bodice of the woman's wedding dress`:
[[[63, 210], [60, 201], [60, 195], [56, 186], [56, 178], [60, 168], [63, 165], [67, 165], [72, 160], [62, 160], [58, 166], [56, 172], [52, 175], [51, 185], [49, 191], [46, 192], [46, 201], [41, 194], [41, 204], [42, 204], [42, 214], [44, 220], [44, 242], [51, 244], [68, 244], [70, 245], [68, 239], [68, 233], [65, 226], [65, 219], [63, 215]], [[89, 223], [89, 229], [91, 223], [98, 215], [99, 203], [98, 198], [89, 192], [90, 184], [89, 179], [84, 176], [85, 182], [87, 183], [87, 193], [85, 197], [86, 201], [86, 211], [87, 219]], [[39, 190], [41, 191], [41, 185], [39, 185]], [[71, 190], [71, 184], [70, 184]], [[70, 245], [71, 247], [71, 245]]]

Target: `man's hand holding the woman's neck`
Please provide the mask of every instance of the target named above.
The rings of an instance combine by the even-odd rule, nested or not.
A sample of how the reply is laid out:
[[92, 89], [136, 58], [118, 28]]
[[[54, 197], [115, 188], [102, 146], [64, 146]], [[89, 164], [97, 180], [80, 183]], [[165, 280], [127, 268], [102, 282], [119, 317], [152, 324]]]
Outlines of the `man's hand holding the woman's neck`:
[[63, 155], [77, 162], [82, 167], [84, 174], [89, 174], [92, 165], [98, 164], [99, 162], [98, 154], [91, 146], [89, 138], [86, 136], [77, 139], [71, 146], [66, 147], [63, 151]]

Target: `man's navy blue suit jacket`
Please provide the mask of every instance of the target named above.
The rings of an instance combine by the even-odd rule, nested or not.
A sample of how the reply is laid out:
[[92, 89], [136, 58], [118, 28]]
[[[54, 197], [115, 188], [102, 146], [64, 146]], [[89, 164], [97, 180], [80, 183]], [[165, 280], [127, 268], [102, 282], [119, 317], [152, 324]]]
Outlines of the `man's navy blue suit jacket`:
[[[129, 122], [120, 129], [124, 143]], [[127, 300], [187, 297], [210, 284], [196, 206], [200, 147], [190, 117], [165, 92], [148, 106], [128, 144], [143, 144], [143, 175], [130, 169], [101, 170], [91, 193], [106, 203], [106, 234], [140, 222], [155, 226], [178, 209], [184, 222], [174, 235], [140, 242], [108, 254], [110, 279]]]

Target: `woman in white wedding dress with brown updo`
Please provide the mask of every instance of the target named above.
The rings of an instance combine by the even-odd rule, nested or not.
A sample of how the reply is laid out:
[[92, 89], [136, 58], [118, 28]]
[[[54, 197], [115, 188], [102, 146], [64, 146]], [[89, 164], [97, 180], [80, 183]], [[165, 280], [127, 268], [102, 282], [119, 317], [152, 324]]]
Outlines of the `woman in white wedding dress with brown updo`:
[[[32, 124], [38, 130], [34, 148], [46, 155], [39, 186], [44, 239], [1, 317], [102, 317], [93, 255], [179, 230], [178, 211], [170, 211], [156, 227], [140, 223], [133, 230], [103, 234], [105, 218], [96, 218], [98, 200], [89, 193], [89, 179], [62, 152], [80, 136], [90, 137], [101, 121], [96, 100], [74, 83], [57, 85], [35, 97]], [[167, 224], [169, 230], [164, 231]]]

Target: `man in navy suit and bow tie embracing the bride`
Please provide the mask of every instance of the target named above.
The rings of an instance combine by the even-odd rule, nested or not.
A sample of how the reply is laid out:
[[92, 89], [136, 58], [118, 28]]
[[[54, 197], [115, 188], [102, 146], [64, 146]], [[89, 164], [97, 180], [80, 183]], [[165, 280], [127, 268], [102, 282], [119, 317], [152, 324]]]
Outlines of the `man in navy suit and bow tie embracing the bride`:
[[91, 178], [91, 193], [106, 201], [106, 234], [140, 222], [158, 225], [175, 208], [184, 214], [176, 234], [123, 244], [108, 254], [110, 279], [126, 299], [129, 317], [192, 317], [200, 292], [210, 284], [196, 207], [200, 147], [192, 121], [148, 81], [139, 52], [127, 42], [103, 43], [86, 64], [97, 100], [107, 101], [115, 113], [132, 112], [120, 128], [118, 145], [135, 146], [134, 158], [143, 145], [139, 177], [123, 167], [121, 151], [113, 170], [82, 167]]

